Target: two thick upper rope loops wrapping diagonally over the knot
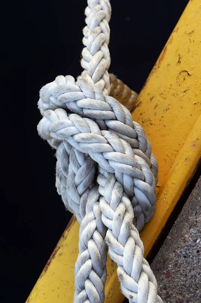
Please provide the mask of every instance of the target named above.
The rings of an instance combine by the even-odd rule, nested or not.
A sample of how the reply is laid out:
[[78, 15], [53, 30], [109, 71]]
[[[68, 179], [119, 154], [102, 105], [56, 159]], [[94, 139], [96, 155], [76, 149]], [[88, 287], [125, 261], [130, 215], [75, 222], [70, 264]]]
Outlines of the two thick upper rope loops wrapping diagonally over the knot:
[[66, 141], [100, 168], [115, 173], [141, 229], [155, 209], [158, 168], [149, 141], [130, 112], [98, 86], [83, 79], [75, 82], [72, 76], [58, 76], [42, 87], [38, 107], [44, 116], [38, 124], [40, 136], [56, 149]]

